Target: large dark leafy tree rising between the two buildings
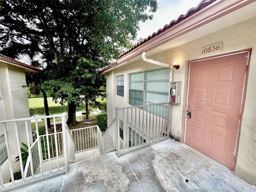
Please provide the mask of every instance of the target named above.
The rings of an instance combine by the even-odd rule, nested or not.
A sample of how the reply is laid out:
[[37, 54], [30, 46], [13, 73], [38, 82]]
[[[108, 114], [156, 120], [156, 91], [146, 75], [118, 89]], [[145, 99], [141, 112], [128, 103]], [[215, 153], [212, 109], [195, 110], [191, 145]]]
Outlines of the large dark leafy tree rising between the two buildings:
[[118, 58], [119, 47], [135, 38], [140, 21], [153, 18], [149, 13], [157, 2], [2, 0], [0, 7], [1, 52], [39, 55], [47, 63], [44, 87], [55, 101], [68, 103], [67, 123], [74, 124], [76, 106], [101, 94], [99, 69]]

